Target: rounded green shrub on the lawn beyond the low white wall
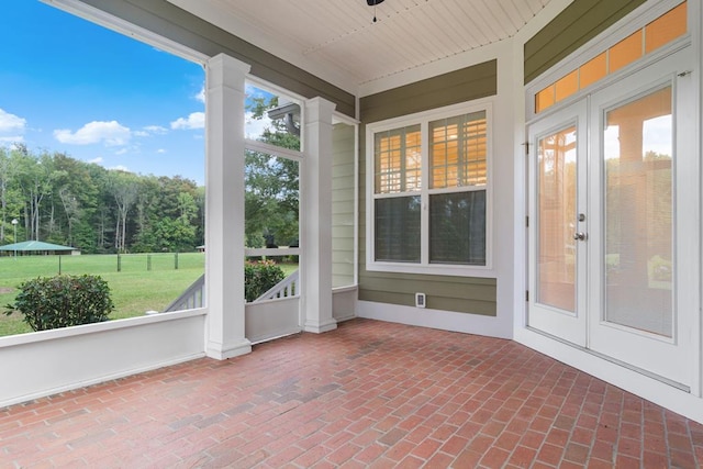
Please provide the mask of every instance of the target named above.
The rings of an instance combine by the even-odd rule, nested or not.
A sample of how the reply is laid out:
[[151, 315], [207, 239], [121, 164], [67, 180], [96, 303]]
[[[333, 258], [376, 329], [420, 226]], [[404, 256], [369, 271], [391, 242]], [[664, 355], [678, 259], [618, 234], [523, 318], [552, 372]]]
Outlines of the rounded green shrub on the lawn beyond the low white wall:
[[19, 289], [5, 314], [24, 314], [33, 331], [99, 323], [114, 309], [108, 282], [99, 276], [38, 277]]

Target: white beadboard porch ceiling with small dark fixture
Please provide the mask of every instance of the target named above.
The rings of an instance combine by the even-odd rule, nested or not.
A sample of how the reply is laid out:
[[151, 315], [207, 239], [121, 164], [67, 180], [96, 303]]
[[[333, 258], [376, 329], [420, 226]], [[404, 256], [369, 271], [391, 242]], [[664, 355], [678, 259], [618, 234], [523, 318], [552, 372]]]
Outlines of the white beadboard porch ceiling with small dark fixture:
[[362, 87], [515, 35], [551, 0], [168, 0], [315, 72]]

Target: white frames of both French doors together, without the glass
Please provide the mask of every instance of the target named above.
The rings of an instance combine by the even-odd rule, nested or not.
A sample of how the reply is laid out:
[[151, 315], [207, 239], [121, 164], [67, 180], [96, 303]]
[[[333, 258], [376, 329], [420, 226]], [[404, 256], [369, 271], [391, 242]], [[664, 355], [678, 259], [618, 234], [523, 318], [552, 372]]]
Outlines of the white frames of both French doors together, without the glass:
[[[685, 72], [687, 64], [692, 60], [690, 51], [678, 51], [667, 57], [652, 62], [639, 71], [625, 77], [622, 81], [613, 81], [607, 87], [590, 96], [581, 98], [571, 104], [549, 112], [544, 118], [535, 120], [527, 129], [528, 142], [533, 147], [531, 154], [537, 153], [536, 143], [543, 135], [569, 123], [578, 123], [578, 109], [588, 109], [588, 183], [583, 193], [587, 194], [585, 210], [588, 228], [588, 258], [584, 263], [588, 269], [585, 282], [578, 281], [579, 289], [585, 289], [585, 300], [578, 301], [578, 309], [584, 308], [588, 313], [572, 317], [563, 313], [540, 313], [536, 304], [535, 228], [528, 232], [528, 286], [529, 301], [527, 304], [527, 326], [542, 333], [556, 336], [560, 340], [570, 343], [591, 354], [601, 356], [610, 361], [625, 366], [636, 372], [656, 378], [668, 384], [685, 391], [699, 389], [695, 377], [699, 376], [700, 357], [696, 345], [700, 337], [696, 334], [696, 320], [700, 302], [699, 259], [701, 250], [701, 228], [699, 216], [701, 213], [699, 186], [701, 165], [696, 157], [696, 141], [700, 133], [695, 129], [696, 103], [690, 96], [696, 96], [694, 80]], [[609, 107], [618, 102], [626, 102], [629, 97], [636, 97], [658, 83], [669, 81], [673, 86], [674, 97], [674, 334], [673, 338], [662, 339], [654, 334], [638, 333], [626, 327], [614, 327], [603, 321], [603, 201], [602, 201], [602, 142], [603, 115]], [[580, 132], [580, 131], [579, 131]], [[580, 139], [579, 139], [580, 142]], [[528, 213], [529, 224], [537, 225], [535, 213], [534, 178], [536, 156], [528, 159]], [[581, 156], [579, 156], [581, 157]], [[582, 179], [579, 176], [579, 183]], [[580, 189], [582, 190], [582, 189]], [[583, 206], [579, 202], [579, 210]], [[580, 227], [580, 226], [579, 226]], [[580, 227], [581, 228], [581, 227]], [[579, 244], [581, 245], [581, 244]], [[579, 256], [580, 261], [584, 261]], [[585, 286], [584, 286], [585, 284]], [[578, 333], [578, 327], [585, 326], [584, 338]]]

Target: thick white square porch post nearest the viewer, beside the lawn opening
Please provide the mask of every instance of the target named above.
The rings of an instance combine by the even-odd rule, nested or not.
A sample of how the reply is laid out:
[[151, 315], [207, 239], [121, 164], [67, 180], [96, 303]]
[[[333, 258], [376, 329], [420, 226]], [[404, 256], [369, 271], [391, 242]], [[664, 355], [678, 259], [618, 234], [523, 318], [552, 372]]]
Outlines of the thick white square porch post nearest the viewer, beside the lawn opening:
[[207, 64], [205, 354], [252, 351], [244, 336], [244, 99], [249, 66], [224, 54]]

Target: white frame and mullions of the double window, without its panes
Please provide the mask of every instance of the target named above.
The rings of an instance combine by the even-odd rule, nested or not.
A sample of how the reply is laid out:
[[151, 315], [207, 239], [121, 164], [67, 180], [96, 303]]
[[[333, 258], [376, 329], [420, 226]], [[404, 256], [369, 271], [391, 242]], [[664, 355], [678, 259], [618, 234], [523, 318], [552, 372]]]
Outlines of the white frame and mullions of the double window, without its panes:
[[[366, 269], [400, 273], [428, 273], [461, 277], [493, 276], [493, 102], [494, 99], [482, 99], [460, 104], [437, 108], [431, 111], [388, 119], [366, 126]], [[477, 190], [486, 190], [486, 265], [456, 265], [429, 263], [429, 196], [453, 192], [450, 188], [431, 189], [429, 186], [429, 123], [440, 119], [454, 118], [473, 112], [486, 112], [487, 125], [487, 183]], [[375, 135], [379, 132], [420, 124], [422, 135], [422, 188], [404, 194], [419, 194], [422, 199], [421, 214], [421, 261], [393, 263], [376, 260], [375, 226]], [[454, 191], [456, 192], [456, 190]], [[380, 198], [387, 194], [378, 194]], [[395, 196], [395, 194], [390, 194]], [[400, 197], [400, 194], [398, 194]]]

